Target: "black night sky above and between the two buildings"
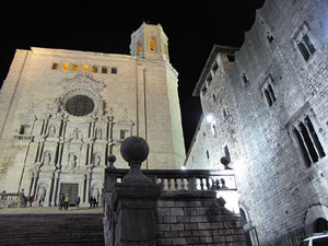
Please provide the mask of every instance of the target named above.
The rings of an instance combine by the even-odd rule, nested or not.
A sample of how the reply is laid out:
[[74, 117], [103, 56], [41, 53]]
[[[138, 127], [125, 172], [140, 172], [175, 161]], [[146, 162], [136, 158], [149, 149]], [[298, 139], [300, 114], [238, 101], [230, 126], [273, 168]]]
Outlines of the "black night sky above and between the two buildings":
[[[73, 2], [73, 1], [72, 1]], [[192, 91], [214, 44], [239, 47], [263, 0], [221, 1], [67, 1], [9, 7], [1, 13], [0, 82], [15, 49], [30, 47], [129, 54], [130, 35], [143, 21], [161, 24], [169, 59], [179, 75], [179, 99], [186, 148], [201, 107]], [[84, 3], [85, 2], [85, 3]], [[204, 4], [207, 3], [207, 4]], [[19, 9], [17, 9], [19, 8]]]

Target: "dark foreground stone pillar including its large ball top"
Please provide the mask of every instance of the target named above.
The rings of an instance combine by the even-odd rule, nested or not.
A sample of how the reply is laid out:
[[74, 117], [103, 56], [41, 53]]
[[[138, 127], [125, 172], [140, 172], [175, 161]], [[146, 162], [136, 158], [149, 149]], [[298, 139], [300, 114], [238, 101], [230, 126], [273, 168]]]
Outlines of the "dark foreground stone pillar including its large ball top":
[[155, 245], [155, 209], [161, 195], [140, 169], [148, 157], [148, 143], [139, 137], [127, 138], [120, 148], [129, 163], [129, 173], [122, 183], [116, 183], [110, 198], [110, 233], [106, 245], [153, 246]]

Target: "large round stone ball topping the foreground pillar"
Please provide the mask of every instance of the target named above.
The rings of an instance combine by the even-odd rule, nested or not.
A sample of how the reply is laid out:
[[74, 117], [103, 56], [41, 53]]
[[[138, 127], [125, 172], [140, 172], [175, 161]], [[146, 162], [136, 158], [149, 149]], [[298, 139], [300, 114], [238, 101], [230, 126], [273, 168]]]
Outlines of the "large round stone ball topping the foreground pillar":
[[149, 145], [144, 139], [132, 136], [122, 141], [120, 145], [120, 154], [128, 163], [141, 163], [148, 157]]

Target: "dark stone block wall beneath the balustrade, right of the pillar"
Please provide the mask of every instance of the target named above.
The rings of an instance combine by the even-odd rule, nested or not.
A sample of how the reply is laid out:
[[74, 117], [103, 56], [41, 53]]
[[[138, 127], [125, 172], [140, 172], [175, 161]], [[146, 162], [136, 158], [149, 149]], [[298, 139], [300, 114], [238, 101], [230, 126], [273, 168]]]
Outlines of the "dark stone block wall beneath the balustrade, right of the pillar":
[[[209, 191], [204, 191], [209, 194]], [[200, 195], [200, 196], [199, 196]], [[156, 245], [246, 246], [241, 218], [215, 199], [189, 197], [168, 200], [165, 192], [156, 208]]]

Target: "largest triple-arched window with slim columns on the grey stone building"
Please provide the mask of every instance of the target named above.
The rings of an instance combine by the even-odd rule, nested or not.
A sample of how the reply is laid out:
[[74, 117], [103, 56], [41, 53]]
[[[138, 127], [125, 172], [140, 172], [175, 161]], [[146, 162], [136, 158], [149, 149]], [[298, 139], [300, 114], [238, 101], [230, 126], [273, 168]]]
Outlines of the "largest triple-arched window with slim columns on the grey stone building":
[[308, 116], [306, 116], [297, 127], [294, 127], [293, 132], [297, 139], [307, 167], [326, 156], [324, 148]]

